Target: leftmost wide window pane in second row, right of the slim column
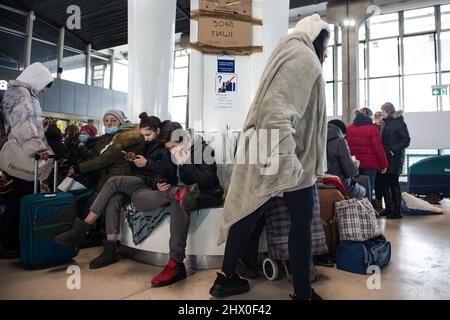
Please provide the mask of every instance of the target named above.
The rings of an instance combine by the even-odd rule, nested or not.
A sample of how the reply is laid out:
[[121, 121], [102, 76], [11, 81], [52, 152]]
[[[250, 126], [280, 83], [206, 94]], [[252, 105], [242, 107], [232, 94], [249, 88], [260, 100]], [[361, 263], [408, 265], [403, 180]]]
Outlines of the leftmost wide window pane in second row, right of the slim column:
[[399, 74], [398, 39], [371, 41], [370, 77], [383, 77]]

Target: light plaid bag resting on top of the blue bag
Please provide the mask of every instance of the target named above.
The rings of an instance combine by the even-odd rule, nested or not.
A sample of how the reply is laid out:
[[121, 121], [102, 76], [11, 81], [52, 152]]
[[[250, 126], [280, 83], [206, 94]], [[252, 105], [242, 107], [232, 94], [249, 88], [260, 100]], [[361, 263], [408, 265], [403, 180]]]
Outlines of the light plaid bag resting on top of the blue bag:
[[336, 202], [341, 240], [366, 241], [379, 236], [376, 211], [367, 198]]

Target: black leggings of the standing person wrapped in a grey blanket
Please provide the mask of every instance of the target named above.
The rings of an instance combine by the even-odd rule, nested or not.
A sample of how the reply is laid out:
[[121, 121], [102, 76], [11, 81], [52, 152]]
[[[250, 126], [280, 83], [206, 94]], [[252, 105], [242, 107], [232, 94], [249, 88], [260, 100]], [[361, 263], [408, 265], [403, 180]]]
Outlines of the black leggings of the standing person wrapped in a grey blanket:
[[[284, 193], [284, 200], [291, 216], [289, 232], [289, 259], [294, 293], [300, 299], [311, 297], [311, 221], [314, 207], [314, 187]], [[239, 258], [255, 251], [265, 219], [267, 203], [252, 214], [236, 222], [228, 233], [222, 271], [231, 276]], [[259, 234], [258, 234], [259, 232]], [[257, 252], [257, 249], [256, 249]]]

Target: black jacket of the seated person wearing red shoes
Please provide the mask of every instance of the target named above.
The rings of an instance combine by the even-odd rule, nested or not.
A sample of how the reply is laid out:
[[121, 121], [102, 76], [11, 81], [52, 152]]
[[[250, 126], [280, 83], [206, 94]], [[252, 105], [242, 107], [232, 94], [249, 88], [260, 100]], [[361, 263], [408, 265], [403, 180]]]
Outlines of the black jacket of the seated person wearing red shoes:
[[214, 156], [214, 150], [200, 136], [197, 136], [190, 150], [189, 161], [181, 166], [175, 165], [169, 154], [168, 158], [162, 160], [161, 174], [151, 179], [150, 186], [156, 189], [156, 184], [161, 177], [166, 178], [171, 185], [196, 183], [200, 189], [198, 209], [221, 206], [224, 192], [217, 176]]

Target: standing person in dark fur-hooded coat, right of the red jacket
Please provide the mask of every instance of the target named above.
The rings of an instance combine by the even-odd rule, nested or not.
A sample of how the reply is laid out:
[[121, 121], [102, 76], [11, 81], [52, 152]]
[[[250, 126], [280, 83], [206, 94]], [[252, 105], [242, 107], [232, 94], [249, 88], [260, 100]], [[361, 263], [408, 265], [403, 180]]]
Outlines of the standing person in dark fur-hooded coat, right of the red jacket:
[[381, 140], [389, 162], [389, 169], [383, 175], [384, 201], [386, 210], [380, 215], [388, 219], [401, 219], [402, 195], [399, 177], [405, 164], [405, 149], [409, 147], [411, 138], [403, 118], [403, 110], [396, 111], [392, 103], [381, 106], [384, 122], [381, 126]]

